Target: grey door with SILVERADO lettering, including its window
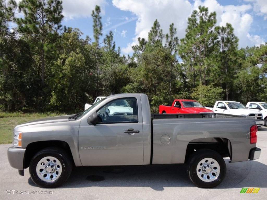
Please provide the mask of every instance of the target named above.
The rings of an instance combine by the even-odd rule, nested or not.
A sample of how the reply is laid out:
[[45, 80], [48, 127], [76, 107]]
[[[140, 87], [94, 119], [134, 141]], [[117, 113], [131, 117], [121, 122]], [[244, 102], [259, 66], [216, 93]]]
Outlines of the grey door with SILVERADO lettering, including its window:
[[142, 108], [138, 101], [132, 97], [108, 102], [97, 110], [96, 125], [82, 119], [78, 146], [83, 166], [143, 164]]

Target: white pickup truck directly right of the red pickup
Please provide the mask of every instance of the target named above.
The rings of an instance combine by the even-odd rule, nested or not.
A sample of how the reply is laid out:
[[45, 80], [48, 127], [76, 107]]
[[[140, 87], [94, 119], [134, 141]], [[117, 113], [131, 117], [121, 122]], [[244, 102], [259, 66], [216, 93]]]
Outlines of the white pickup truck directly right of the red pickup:
[[[232, 115], [232, 117], [254, 117], [258, 127], [264, 125], [262, 113], [247, 109], [242, 103], [237, 101], [216, 101], [213, 108], [206, 108], [211, 109], [216, 114], [220, 114], [222, 118], [228, 118], [229, 115]], [[219, 116], [217, 115], [217, 117]]]

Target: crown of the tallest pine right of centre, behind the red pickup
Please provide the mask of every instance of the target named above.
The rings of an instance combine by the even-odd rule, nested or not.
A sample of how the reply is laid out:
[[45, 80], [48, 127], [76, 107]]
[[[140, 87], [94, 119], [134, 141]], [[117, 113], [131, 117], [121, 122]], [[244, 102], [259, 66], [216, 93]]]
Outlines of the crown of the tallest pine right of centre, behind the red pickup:
[[[180, 40], [179, 55], [186, 67], [184, 81], [189, 79], [193, 87], [198, 83], [208, 85], [210, 66], [218, 51], [217, 33], [214, 31], [216, 13], [208, 13], [208, 8], [199, 6], [188, 18], [185, 38]], [[186, 84], [185, 84], [186, 85]]]

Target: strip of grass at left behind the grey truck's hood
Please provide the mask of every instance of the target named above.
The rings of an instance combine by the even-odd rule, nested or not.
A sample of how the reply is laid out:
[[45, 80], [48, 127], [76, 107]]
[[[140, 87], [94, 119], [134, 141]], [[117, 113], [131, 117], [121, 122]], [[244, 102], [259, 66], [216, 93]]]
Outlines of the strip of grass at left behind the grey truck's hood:
[[34, 119], [65, 115], [64, 113], [6, 113], [0, 112], [0, 144], [12, 143], [12, 131], [16, 125]]

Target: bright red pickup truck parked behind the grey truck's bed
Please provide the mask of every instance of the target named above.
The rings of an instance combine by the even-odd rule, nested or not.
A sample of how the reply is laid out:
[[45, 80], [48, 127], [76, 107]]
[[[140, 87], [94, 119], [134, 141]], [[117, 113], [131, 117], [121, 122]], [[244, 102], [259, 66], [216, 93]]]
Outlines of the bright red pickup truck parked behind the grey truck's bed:
[[214, 113], [199, 102], [189, 99], [175, 99], [172, 105], [159, 105], [159, 113]]

